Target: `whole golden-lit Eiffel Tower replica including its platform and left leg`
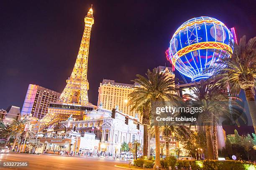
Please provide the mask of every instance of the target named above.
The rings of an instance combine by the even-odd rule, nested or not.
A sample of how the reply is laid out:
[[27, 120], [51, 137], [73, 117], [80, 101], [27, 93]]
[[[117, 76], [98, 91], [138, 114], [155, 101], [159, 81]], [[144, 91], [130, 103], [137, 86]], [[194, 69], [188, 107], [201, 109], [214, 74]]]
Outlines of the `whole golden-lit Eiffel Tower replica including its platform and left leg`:
[[36, 124], [33, 129], [34, 132], [41, 132], [44, 128], [67, 120], [70, 115], [82, 120], [82, 116], [95, 107], [89, 103], [87, 95], [89, 90], [89, 82], [87, 80], [88, 55], [91, 29], [94, 24], [92, 7], [84, 17], [84, 23], [84, 33], [77, 60], [71, 76], [67, 80], [67, 85], [57, 102], [50, 103], [47, 114]]

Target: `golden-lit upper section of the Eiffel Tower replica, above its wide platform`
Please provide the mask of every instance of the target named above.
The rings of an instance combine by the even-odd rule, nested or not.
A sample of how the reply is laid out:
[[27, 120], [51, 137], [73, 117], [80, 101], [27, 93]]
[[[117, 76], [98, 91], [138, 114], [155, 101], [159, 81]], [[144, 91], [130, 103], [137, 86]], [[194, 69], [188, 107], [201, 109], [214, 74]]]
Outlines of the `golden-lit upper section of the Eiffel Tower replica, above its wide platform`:
[[94, 24], [92, 7], [84, 17], [84, 33], [80, 44], [77, 60], [75, 62], [71, 76], [67, 80], [59, 102], [78, 103], [80, 105], [88, 105], [87, 90], [89, 90], [89, 82], [87, 80], [87, 67], [89, 56], [89, 45], [92, 25]]

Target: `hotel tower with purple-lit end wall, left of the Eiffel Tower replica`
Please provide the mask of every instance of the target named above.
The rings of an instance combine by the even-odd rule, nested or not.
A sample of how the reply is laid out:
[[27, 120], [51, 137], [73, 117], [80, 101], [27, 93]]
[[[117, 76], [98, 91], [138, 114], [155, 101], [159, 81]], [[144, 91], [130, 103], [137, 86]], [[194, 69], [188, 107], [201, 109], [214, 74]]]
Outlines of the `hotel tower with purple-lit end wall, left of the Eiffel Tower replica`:
[[61, 94], [39, 85], [28, 85], [28, 91], [21, 115], [30, 115], [41, 119], [48, 112], [50, 102], [56, 102]]

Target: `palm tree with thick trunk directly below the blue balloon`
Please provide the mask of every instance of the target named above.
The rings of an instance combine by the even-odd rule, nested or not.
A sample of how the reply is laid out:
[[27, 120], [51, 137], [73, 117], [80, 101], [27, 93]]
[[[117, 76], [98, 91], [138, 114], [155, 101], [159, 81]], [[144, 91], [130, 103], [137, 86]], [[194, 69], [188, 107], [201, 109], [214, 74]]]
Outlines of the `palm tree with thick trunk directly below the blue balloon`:
[[[195, 87], [191, 89], [194, 94], [193, 96], [188, 94], [184, 95], [186, 99], [192, 99], [187, 100], [187, 103], [192, 102], [192, 105], [202, 107], [202, 113], [200, 113], [199, 117], [201, 117], [202, 123], [205, 126], [209, 159], [218, 158], [217, 131], [214, 129], [215, 147], [213, 148], [212, 125], [216, 123], [220, 117], [234, 120], [237, 116], [241, 115], [240, 110], [236, 108], [238, 105], [234, 101], [237, 98], [230, 98], [227, 89], [223, 87], [222, 84], [216, 83], [216, 81], [217, 80], [214, 81], [212, 79], [206, 81], [200, 80], [200, 82], [195, 83]], [[234, 108], [232, 107], [232, 113], [230, 112], [230, 103], [236, 106]]]

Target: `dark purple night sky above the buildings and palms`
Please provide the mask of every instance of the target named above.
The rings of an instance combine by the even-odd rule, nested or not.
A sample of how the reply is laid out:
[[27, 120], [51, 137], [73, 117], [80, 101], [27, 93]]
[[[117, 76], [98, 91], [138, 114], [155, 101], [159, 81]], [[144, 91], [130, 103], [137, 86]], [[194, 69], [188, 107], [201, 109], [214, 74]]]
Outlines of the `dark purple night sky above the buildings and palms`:
[[[22, 107], [28, 84], [62, 92], [77, 57], [84, 15], [93, 4], [89, 101], [102, 79], [131, 83], [148, 68], [171, 66], [165, 50], [190, 18], [209, 16], [237, 37], [256, 36], [256, 1], [41, 0], [0, 2], [0, 109]], [[175, 72], [177, 77], [179, 73]]]

